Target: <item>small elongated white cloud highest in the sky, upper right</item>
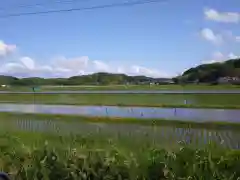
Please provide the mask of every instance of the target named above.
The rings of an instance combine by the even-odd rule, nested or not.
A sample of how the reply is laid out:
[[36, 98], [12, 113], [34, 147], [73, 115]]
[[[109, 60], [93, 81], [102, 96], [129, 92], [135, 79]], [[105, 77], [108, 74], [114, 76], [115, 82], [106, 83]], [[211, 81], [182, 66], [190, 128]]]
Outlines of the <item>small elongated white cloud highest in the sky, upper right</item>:
[[239, 23], [240, 13], [238, 12], [218, 12], [215, 9], [204, 9], [205, 18], [223, 23]]

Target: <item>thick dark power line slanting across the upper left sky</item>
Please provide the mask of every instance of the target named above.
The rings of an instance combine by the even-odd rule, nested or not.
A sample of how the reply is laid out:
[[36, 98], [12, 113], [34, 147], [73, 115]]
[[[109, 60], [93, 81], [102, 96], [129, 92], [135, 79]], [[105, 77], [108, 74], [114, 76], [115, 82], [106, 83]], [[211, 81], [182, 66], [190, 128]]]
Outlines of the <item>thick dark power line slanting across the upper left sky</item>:
[[27, 12], [27, 13], [13, 13], [0, 16], [0, 18], [8, 18], [8, 17], [19, 17], [19, 16], [30, 16], [30, 15], [38, 15], [38, 14], [51, 14], [51, 13], [64, 13], [64, 12], [73, 12], [73, 11], [84, 11], [84, 10], [96, 10], [96, 9], [105, 9], [105, 8], [114, 8], [114, 7], [127, 7], [127, 6], [135, 6], [140, 4], [150, 4], [150, 3], [159, 3], [164, 2], [166, 0], [142, 0], [136, 2], [125, 2], [125, 3], [113, 3], [113, 4], [105, 4], [99, 6], [92, 7], [82, 7], [82, 8], [70, 8], [70, 9], [60, 9], [60, 10], [50, 10], [50, 11], [38, 11], [38, 12]]

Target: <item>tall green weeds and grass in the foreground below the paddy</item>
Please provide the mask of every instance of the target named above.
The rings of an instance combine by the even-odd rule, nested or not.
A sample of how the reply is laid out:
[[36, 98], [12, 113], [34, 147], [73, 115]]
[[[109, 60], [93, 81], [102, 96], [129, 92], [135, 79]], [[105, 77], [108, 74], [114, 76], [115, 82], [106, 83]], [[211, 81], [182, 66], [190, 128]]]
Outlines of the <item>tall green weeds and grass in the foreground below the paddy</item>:
[[184, 143], [172, 149], [83, 136], [0, 135], [0, 168], [12, 179], [237, 180], [240, 151]]

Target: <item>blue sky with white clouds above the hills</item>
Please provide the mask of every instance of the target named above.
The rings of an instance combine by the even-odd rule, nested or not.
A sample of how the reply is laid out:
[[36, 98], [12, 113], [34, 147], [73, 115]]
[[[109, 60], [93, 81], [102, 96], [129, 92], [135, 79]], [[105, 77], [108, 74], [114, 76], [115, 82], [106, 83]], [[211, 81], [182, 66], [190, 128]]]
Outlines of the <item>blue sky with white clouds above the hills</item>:
[[127, 1], [1, 1], [0, 74], [70, 77], [111, 72], [173, 77], [202, 63], [240, 55], [239, 0], [159, 0], [126, 7], [8, 16], [116, 2]]

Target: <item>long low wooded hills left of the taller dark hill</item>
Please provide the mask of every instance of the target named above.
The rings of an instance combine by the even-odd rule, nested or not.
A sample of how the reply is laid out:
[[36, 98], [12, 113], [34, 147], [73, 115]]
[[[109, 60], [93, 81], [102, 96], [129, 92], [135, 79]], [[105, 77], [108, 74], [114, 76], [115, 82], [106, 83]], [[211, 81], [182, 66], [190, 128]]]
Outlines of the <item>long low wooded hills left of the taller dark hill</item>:
[[0, 85], [109, 85], [109, 84], [141, 84], [148, 82], [166, 83], [171, 79], [151, 78], [146, 76], [128, 76], [125, 74], [95, 73], [70, 78], [17, 78], [12, 76], [0, 76]]

